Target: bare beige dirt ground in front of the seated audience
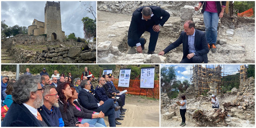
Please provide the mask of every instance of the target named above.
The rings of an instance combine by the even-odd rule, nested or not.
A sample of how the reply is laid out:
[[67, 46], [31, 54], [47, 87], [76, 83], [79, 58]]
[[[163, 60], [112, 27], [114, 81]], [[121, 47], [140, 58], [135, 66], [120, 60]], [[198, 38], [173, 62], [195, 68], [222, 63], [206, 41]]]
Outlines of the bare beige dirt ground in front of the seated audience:
[[[127, 109], [123, 120], [118, 120], [121, 125], [116, 127], [159, 127], [159, 100], [152, 100], [146, 97], [136, 95], [126, 95], [125, 105], [123, 108]], [[107, 117], [104, 118], [105, 124], [109, 126]]]

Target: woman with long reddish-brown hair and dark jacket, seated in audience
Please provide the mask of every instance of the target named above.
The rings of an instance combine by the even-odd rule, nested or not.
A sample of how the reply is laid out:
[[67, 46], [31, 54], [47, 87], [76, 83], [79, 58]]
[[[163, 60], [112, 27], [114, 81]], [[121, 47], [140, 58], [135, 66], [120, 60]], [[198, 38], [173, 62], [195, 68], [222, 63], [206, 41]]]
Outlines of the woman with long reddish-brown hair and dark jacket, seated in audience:
[[61, 112], [62, 119], [65, 126], [89, 126], [89, 123], [81, 124], [80, 121], [74, 115], [73, 108], [69, 104], [68, 98], [72, 97], [72, 90], [70, 88], [69, 82], [60, 83], [56, 88], [59, 95], [59, 108]]

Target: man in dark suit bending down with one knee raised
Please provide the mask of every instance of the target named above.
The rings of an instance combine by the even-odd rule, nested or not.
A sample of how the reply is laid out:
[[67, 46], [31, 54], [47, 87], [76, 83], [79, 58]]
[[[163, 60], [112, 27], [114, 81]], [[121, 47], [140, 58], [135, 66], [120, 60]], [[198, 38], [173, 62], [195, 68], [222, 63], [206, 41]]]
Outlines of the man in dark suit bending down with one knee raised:
[[[162, 18], [161, 18], [162, 17]], [[150, 42], [148, 54], [155, 54], [160, 27], [164, 26], [169, 19], [170, 14], [160, 7], [146, 6], [138, 8], [132, 17], [128, 32], [128, 45], [130, 47], [137, 46], [138, 53], [143, 53], [145, 49], [146, 39], [141, 38], [145, 31], [150, 33]]]

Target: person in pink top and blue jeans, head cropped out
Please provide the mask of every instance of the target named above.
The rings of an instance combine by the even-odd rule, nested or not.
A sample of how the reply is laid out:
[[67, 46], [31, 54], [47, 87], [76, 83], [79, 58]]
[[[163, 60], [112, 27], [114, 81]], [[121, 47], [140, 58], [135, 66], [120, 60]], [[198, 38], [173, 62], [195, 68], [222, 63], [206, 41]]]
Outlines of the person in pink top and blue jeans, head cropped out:
[[203, 5], [202, 14], [204, 15], [204, 25], [208, 48], [216, 52], [217, 29], [219, 18], [223, 17], [226, 2], [199, 2], [195, 11], [198, 11]]

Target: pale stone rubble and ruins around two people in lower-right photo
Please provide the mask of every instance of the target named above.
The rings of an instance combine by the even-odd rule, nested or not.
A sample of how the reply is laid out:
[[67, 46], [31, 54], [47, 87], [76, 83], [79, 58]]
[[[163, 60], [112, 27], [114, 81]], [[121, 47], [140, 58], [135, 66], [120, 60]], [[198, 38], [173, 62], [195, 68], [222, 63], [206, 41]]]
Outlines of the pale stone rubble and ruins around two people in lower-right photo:
[[237, 89], [237, 93], [218, 95], [219, 109], [211, 108], [210, 96], [198, 96], [194, 85], [191, 85], [184, 93], [179, 93], [175, 99], [169, 99], [165, 93], [161, 94], [161, 120], [164, 124], [180, 123], [180, 106], [175, 102], [181, 100], [181, 95], [186, 95], [186, 123], [190, 123], [190, 126], [254, 126], [254, 87], [254, 78], [250, 77], [243, 82], [243, 86]]

